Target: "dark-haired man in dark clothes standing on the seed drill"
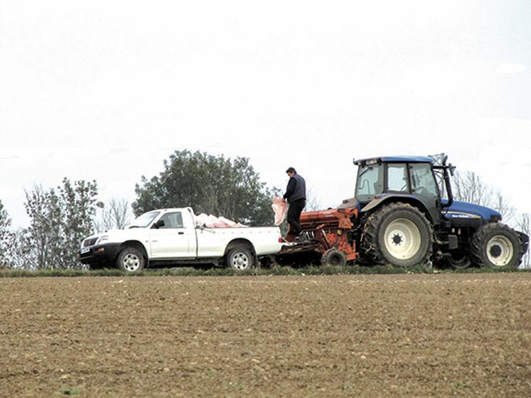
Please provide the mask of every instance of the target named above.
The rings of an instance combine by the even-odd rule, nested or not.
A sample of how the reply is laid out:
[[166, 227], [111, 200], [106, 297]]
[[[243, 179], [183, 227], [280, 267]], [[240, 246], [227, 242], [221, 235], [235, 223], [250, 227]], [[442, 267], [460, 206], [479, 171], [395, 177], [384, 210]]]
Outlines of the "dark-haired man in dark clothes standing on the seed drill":
[[299, 221], [301, 219], [302, 209], [306, 206], [306, 181], [297, 174], [297, 171], [293, 167], [289, 167], [286, 173], [289, 175], [288, 187], [284, 194], [284, 199], [289, 203], [289, 230], [286, 241], [294, 241], [296, 236], [302, 231]]

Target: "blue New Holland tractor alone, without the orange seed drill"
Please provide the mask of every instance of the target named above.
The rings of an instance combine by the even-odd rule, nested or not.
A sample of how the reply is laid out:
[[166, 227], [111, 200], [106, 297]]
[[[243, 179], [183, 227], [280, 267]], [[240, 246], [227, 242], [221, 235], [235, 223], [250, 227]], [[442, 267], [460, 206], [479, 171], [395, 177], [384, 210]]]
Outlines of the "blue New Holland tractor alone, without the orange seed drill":
[[439, 164], [434, 157], [414, 156], [354, 160], [363, 257], [404, 266], [432, 260], [456, 268], [517, 267], [529, 237], [501, 223], [498, 211], [455, 201], [454, 167], [446, 159]]

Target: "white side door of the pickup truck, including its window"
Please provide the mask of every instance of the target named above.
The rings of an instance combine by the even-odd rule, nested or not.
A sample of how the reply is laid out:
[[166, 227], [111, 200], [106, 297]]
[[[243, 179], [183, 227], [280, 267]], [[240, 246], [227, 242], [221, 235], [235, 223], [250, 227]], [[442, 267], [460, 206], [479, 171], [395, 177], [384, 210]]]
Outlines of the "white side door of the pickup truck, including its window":
[[195, 258], [195, 231], [183, 225], [181, 211], [171, 211], [157, 221], [159, 228], [149, 230], [150, 258]]

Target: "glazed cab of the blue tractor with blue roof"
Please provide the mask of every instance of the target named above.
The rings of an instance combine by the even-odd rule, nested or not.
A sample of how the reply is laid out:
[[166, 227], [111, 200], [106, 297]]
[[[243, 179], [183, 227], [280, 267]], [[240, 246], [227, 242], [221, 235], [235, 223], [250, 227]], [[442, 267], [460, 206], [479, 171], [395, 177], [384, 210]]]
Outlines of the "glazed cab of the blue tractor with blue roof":
[[355, 160], [358, 179], [355, 198], [362, 211], [397, 200], [422, 209], [431, 222], [441, 222], [441, 193], [434, 175], [434, 159], [423, 156], [372, 157]]

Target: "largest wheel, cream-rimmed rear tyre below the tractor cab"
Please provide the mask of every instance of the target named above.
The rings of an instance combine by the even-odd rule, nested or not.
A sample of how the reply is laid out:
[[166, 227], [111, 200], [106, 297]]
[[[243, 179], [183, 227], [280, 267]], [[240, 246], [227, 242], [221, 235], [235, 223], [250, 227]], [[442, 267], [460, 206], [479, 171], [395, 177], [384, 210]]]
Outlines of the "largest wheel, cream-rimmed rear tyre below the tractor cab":
[[378, 264], [422, 265], [433, 250], [433, 228], [419, 209], [391, 203], [371, 214], [363, 231], [363, 250]]

